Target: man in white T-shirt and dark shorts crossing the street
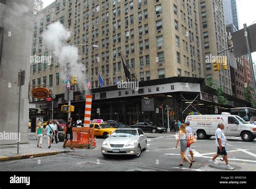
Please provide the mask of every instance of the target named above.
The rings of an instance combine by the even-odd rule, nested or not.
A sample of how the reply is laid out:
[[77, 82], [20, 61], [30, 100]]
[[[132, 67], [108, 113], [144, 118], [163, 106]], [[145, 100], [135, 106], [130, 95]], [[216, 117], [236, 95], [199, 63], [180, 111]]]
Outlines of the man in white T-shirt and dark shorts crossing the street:
[[225, 134], [224, 134], [224, 124], [223, 123], [219, 123], [218, 124], [218, 129], [215, 131], [215, 137], [216, 137], [216, 146], [217, 146], [217, 154], [215, 154], [215, 156], [209, 161], [210, 165], [211, 166], [214, 166], [214, 163], [213, 161], [219, 156], [224, 156], [224, 160], [226, 162], [226, 169], [227, 170], [234, 170], [233, 167], [230, 166], [230, 164], [228, 164], [228, 160], [227, 160], [227, 152], [226, 152], [226, 148], [225, 148], [225, 145], [226, 145], [226, 137], [225, 137]]

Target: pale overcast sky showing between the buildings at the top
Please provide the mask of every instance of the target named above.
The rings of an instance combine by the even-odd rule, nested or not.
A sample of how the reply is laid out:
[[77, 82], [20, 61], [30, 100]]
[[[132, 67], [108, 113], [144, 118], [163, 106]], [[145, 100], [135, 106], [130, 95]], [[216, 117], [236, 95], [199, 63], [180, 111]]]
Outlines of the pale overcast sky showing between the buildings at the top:
[[[43, 2], [44, 2], [44, 8], [45, 8], [52, 2], [55, 2], [55, 0], [43, 0]], [[243, 26], [244, 23], [246, 23], [247, 26], [249, 26], [254, 21], [256, 21], [255, 8], [256, 8], [255, 0], [238, 0], [240, 29], [244, 28]], [[256, 62], [256, 52], [253, 53], [253, 60]]]

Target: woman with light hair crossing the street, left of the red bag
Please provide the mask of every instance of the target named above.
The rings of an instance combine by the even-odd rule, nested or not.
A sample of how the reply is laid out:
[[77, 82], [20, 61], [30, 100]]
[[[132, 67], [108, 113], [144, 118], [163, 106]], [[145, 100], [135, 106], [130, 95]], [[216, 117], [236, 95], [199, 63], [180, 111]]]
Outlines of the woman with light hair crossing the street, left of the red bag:
[[176, 149], [178, 148], [178, 144], [180, 142], [180, 164], [179, 166], [183, 166], [183, 158], [187, 160], [187, 162], [190, 164], [190, 168], [193, 165], [193, 163], [187, 158], [185, 152], [187, 150], [187, 138], [188, 134], [186, 131], [186, 126], [184, 124], [180, 124], [180, 130], [178, 132], [178, 139], [176, 143]]

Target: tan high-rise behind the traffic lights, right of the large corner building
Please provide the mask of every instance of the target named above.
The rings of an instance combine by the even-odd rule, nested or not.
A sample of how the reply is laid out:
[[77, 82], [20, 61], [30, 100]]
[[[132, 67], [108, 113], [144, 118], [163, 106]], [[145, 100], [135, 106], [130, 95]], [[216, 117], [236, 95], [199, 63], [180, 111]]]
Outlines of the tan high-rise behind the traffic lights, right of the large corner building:
[[[210, 0], [200, 1], [200, 22], [203, 32], [203, 57], [226, 56], [227, 52], [220, 51], [227, 48], [227, 35], [223, 1]], [[228, 64], [230, 65], [230, 64]], [[206, 78], [223, 87], [225, 93], [232, 95], [230, 67], [227, 70], [214, 71], [213, 64], [206, 63], [204, 66]]]

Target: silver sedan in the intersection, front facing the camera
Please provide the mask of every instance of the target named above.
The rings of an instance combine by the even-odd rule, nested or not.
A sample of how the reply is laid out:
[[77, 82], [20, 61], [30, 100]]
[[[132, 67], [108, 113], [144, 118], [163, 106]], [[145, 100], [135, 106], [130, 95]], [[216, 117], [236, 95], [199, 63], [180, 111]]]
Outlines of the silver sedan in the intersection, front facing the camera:
[[117, 129], [102, 144], [103, 156], [133, 155], [138, 158], [146, 149], [147, 136], [139, 128]]

